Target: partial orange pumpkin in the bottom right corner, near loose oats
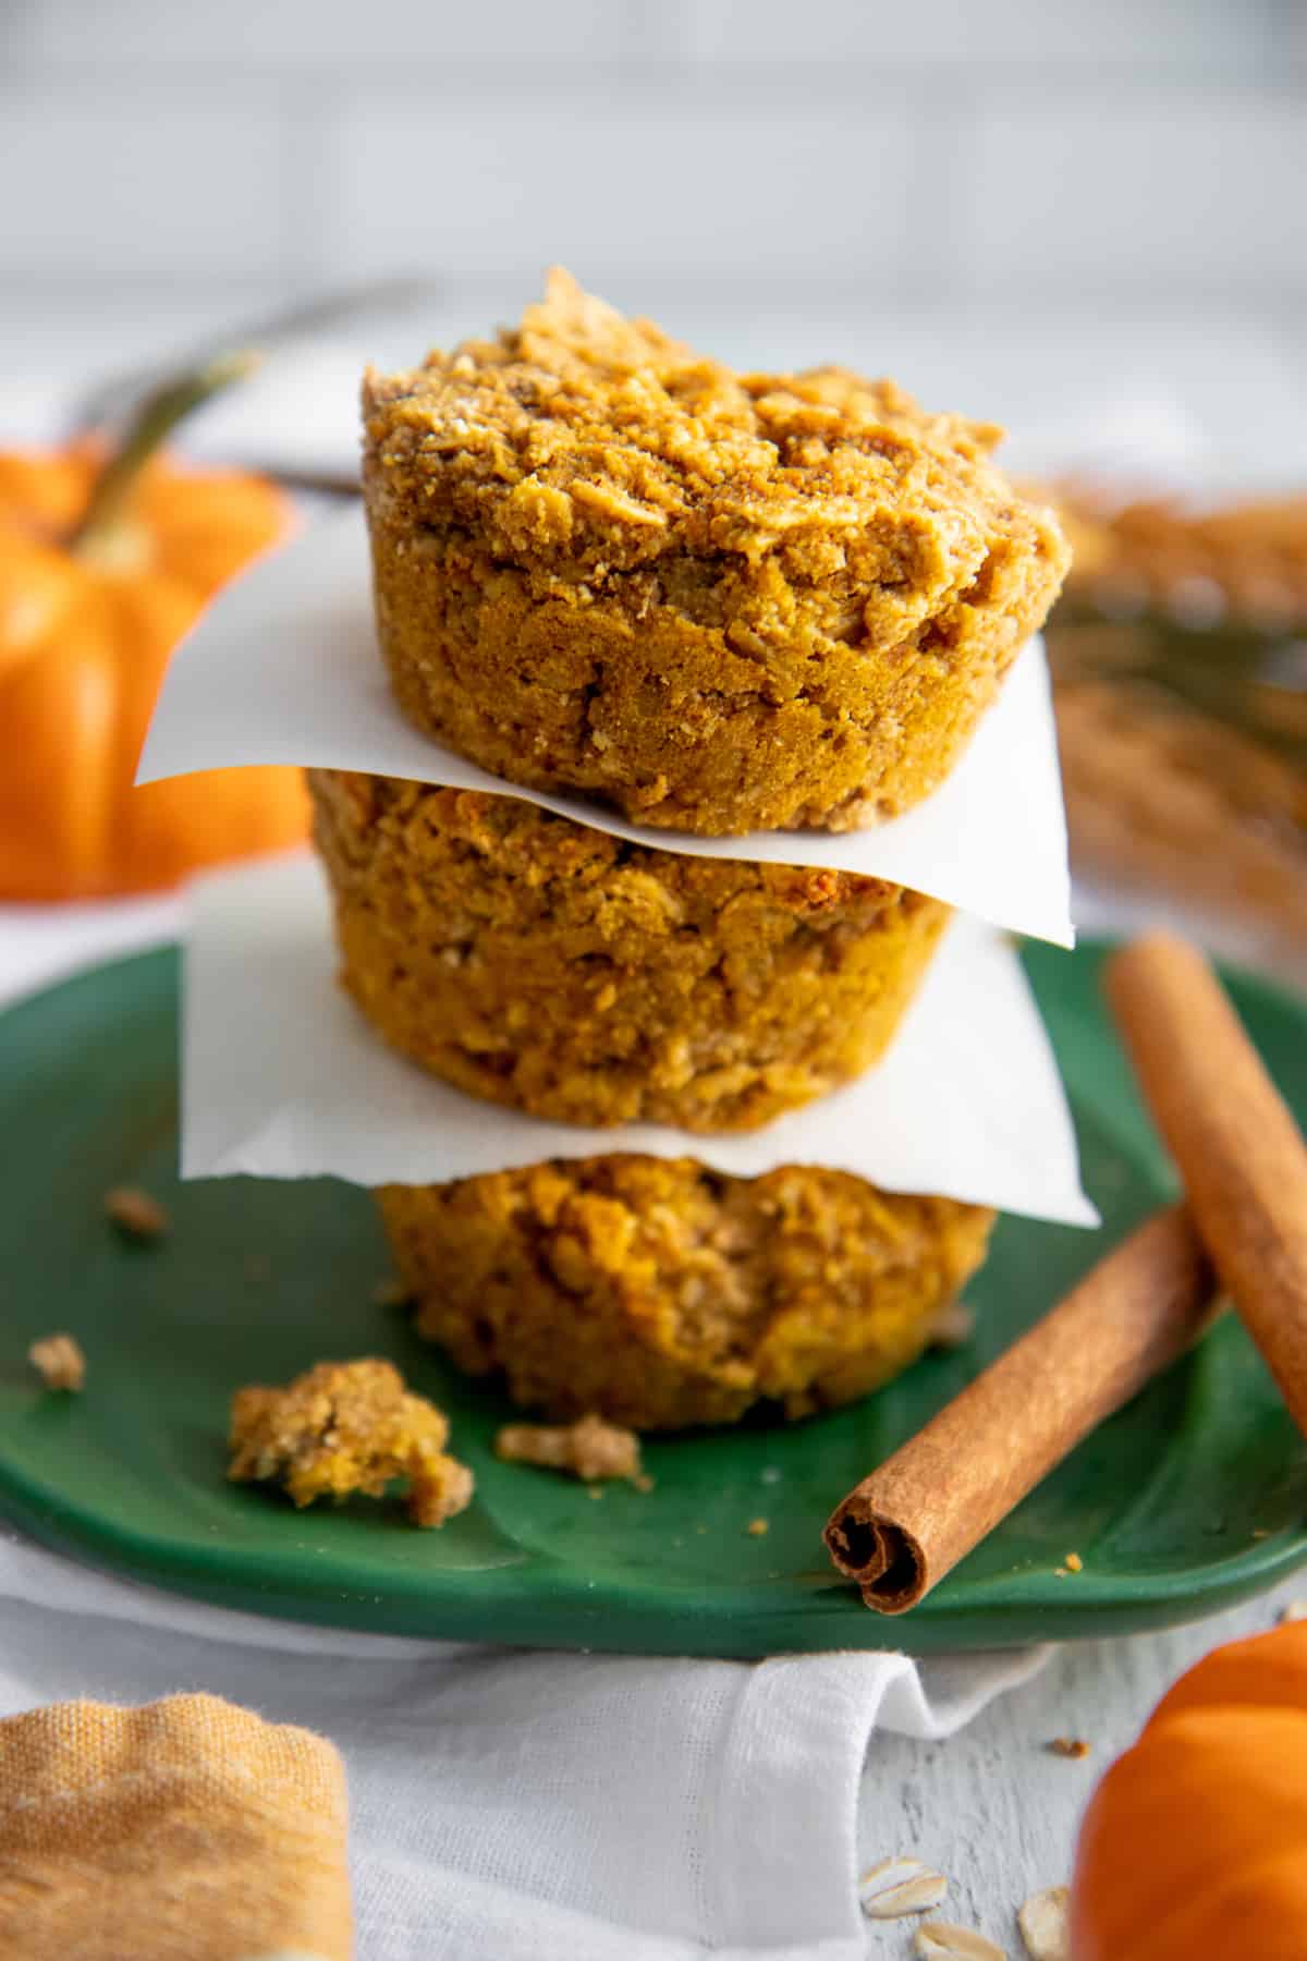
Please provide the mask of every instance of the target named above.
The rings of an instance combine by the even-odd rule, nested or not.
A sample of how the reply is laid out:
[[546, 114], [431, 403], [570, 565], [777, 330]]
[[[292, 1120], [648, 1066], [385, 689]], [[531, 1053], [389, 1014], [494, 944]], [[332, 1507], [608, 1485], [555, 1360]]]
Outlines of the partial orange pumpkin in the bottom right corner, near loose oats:
[[1307, 1622], [1182, 1675], [1089, 1802], [1072, 1961], [1195, 1955], [1307, 1955]]

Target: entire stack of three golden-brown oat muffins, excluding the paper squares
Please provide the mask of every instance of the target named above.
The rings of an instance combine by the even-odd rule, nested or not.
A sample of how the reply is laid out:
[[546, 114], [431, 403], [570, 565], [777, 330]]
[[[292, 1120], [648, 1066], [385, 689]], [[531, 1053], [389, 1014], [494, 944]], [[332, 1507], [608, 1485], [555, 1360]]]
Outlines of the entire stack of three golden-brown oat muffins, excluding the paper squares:
[[723, 1177], [692, 1135], [651, 1157], [621, 1126], [754, 1130], [884, 1053], [948, 908], [756, 863], [749, 833], [939, 788], [1056, 596], [1054, 520], [990, 463], [999, 431], [843, 369], [735, 375], [560, 273], [515, 331], [370, 375], [364, 416], [408, 720], [643, 828], [310, 775], [376, 1031], [470, 1096], [613, 1128], [602, 1157], [378, 1194], [419, 1330], [557, 1418], [864, 1394], [929, 1341], [993, 1214], [829, 1169]]

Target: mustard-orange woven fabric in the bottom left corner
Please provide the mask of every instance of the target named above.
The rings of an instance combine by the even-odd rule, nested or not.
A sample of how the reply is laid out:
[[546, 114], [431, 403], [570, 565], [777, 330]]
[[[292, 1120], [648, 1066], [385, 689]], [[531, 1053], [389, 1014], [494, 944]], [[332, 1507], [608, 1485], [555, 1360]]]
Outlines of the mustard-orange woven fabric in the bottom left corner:
[[345, 1767], [218, 1696], [0, 1722], [6, 1961], [349, 1961]]

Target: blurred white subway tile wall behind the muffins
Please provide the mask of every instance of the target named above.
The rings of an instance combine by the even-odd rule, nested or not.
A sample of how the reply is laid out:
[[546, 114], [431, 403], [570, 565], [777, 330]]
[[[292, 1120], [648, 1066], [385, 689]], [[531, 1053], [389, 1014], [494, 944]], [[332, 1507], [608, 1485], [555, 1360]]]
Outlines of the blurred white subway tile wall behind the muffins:
[[411, 357], [562, 259], [682, 331], [723, 324], [723, 353], [999, 396], [1046, 369], [1046, 412], [1042, 339], [1076, 327], [1095, 382], [1156, 371], [1168, 335], [1197, 375], [1201, 341], [1205, 392], [1254, 345], [1297, 359], [1305, 12], [0, 0], [0, 363], [92, 373], [396, 271], [445, 294]]

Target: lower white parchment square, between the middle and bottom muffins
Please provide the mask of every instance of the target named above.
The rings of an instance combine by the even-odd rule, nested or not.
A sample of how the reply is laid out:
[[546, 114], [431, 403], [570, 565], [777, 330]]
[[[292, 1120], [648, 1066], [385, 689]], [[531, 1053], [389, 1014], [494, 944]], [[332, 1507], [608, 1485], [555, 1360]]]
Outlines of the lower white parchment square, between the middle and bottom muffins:
[[192, 888], [184, 1177], [427, 1184], [604, 1151], [692, 1151], [735, 1177], [829, 1165], [886, 1190], [1097, 1224], [1039, 1008], [1015, 949], [980, 920], [952, 920], [872, 1071], [764, 1130], [694, 1137], [547, 1124], [392, 1053], [335, 984], [329, 900], [308, 857]]

